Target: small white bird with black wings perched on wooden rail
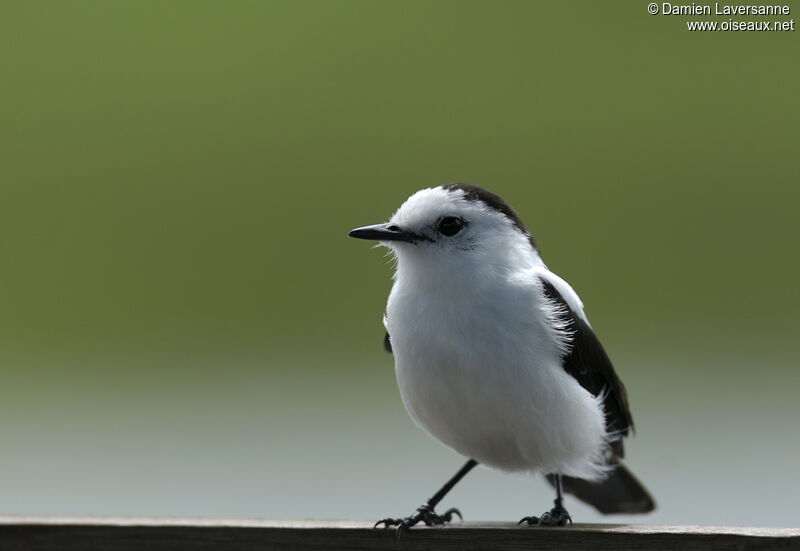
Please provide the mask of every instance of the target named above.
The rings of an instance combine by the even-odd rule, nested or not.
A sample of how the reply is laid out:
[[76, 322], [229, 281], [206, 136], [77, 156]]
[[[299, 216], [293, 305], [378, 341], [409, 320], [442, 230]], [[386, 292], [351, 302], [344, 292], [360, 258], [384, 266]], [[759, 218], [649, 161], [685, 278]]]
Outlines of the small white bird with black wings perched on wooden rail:
[[478, 464], [541, 473], [554, 487], [554, 506], [518, 524], [572, 524], [565, 493], [604, 514], [655, 508], [622, 461], [634, 430], [625, 387], [578, 294], [548, 269], [508, 203], [446, 184], [349, 236], [377, 241], [395, 259], [383, 344], [409, 416], [468, 458], [411, 515], [375, 527], [397, 527], [399, 537], [462, 518], [435, 508]]

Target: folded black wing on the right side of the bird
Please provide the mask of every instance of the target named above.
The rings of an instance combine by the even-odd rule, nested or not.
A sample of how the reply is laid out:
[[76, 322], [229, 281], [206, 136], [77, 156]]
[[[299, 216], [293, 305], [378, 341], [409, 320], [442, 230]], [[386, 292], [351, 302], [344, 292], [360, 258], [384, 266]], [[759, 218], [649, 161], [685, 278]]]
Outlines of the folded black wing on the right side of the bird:
[[625, 386], [589, 324], [569, 307], [552, 283], [543, 278], [541, 281], [545, 296], [562, 307], [573, 332], [570, 352], [564, 357], [564, 369], [594, 396], [605, 396], [606, 429], [619, 435], [611, 449], [617, 457], [622, 457], [622, 437], [633, 430]]

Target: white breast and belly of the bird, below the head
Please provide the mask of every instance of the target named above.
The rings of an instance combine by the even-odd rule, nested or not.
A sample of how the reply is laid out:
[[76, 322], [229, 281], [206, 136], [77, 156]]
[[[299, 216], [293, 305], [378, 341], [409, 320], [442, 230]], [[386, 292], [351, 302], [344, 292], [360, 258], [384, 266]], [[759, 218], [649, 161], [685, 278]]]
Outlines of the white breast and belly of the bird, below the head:
[[493, 283], [434, 289], [398, 276], [386, 326], [406, 409], [480, 463], [602, 478], [601, 401], [561, 366], [568, 335], [554, 326], [537, 274]]

